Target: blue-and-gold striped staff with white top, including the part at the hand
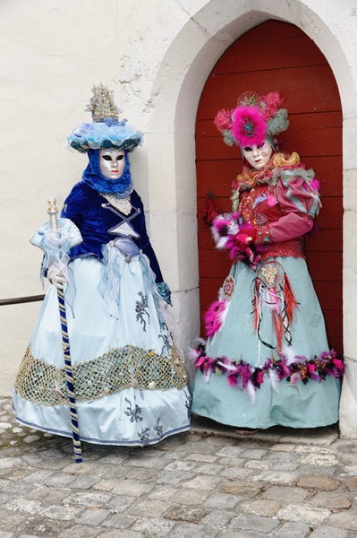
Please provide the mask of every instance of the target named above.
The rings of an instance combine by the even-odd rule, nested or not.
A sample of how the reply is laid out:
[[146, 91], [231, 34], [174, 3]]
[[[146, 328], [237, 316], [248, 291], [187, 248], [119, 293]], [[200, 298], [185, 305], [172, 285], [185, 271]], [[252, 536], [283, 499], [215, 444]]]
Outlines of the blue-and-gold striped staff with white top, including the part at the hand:
[[[64, 244], [67, 239], [67, 233], [64, 230], [60, 230], [58, 226], [58, 218], [57, 218], [57, 205], [56, 200], [53, 197], [48, 198], [47, 200], [48, 207], [47, 207], [47, 213], [49, 217], [49, 235], [51, 236], [51, 242], [57, 244], [58, 251], [56, 253], [57, 262], [59, 262], [59, 267], [61, 271], [61, 265], [64, 267], [67, 266], [68, 260], [65, 259], [62, 260], [63, 257], [68, 258], [68, 256], [65, 253], [65, 250], [63, 250]], [[61, 276], [56, 279], [55, 287], [57, 289], [57, 299], [58, 299], [58, 310], [59, 310], [59, 316], [60, 316], [60, 323], [61, 323], [61, 335], [62, 335], [62, 349], [64, 351], [64, 371], [65, 371], [65, 380], [67, 383], [67, 390], [68, 390], [68, 401], [70, 404], [70, 412], [71, 412], [71, 423], [72, 423], [72, 440], [73, 440], [73, 450], [74, 450], [74, 460], [76, 464], [81, 464], [82, 462], [82, 456], [81, 456], [81, 438], [80, 438], [80, 430], [78, 428], [78, 416], [77, 416], [77, 407], [76, 407], [76, 399], [75, 399], [75, 392], [74, 392], [74, 379], [73, 379], [73, 372], [72, 372], [72, 358], [71, 358], [71, 349], [70, 349], [70, 340], [68, 336], [68, 327], [67, 327], [67, 317], [66, 317], [66, 308], [65, 308], [65, 302], [64, 302], [64, 282], [65, 279], [63, 278], [62, 271], [60, 273]]]

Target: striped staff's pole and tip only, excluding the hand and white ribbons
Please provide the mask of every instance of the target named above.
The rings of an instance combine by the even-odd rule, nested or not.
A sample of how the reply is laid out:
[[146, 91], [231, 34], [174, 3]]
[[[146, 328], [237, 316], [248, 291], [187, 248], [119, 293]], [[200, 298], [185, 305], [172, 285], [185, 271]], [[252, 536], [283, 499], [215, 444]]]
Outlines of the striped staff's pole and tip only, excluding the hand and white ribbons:
[[[47, 204], [48, 204], [47, 213], [49, 217], [49, 229], [53, 230], [54, 232], [57, 231], [58, 237], [60, 238], [61, 231], [58, 229], [58, 219], [57, 219], [58, 209], [57, 209], [55, 198], [53, 197], [48, 198]], [[68, 400], [69, 400], [70, 412], [71, 412], [74, 460], [76, 464], [81, 464], [82, 462], [81, 438], [80, 438], [80, 430], [78, 428], [78, 416], [77, 416], [76, 399], [75, 399], [75, 393], [74, 393], [72, 358], [71, 358], [70, 340], [68, 336], [67, 317], [66, 317], [66, 312], [65, 312], [63, 282], [56, 282], [56, 289], [57, 289], [59, 316], [60, 316], [60, 322], [61, 322], [62, 349], [64, 351], [65, 380], [67, 383]]]

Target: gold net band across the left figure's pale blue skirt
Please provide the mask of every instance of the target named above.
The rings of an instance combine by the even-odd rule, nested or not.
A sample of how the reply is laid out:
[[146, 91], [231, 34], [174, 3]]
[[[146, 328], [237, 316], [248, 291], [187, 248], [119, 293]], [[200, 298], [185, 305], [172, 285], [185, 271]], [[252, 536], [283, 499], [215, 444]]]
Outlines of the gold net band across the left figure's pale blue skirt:
[[[76, 400], [86, 401], [117, 393], [124, 388], [168, 390], [186, 385], [186, 373], [177, 348], [164, 357], [156, 351], [127, 345], [98, 359], [73, 365]], [[68, 403], [64, 368], [35, 359], [27, 349], [15, 380], [19, 394], [43, 405]]]

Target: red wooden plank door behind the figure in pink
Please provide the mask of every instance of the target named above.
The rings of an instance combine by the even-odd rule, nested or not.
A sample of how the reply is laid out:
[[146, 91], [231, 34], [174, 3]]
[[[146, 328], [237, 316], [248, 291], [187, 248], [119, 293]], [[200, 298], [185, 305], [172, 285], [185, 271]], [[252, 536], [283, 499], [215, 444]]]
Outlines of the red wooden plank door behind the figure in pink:
[[321, 183], [323, 208], [306, 239], [306, 254], [329, 344], [343, 351], [341, 104], [325, 56], [302, 30], [285, 22], [264, 22], [238, 39], [202, 91], [196, 124], [201, 314], [216, 299], [230, 267], [202, 219], [206, 195], [213, 192], [219, 212], [229, 211], [231, 182], [242, 169], [240, 150], [225, 145], [213, 118], [219, 108], [234, 108], [243, 91], [276, 90], [285, 97], [291, 124], [281, 135], [281, 148], [298, 152]]

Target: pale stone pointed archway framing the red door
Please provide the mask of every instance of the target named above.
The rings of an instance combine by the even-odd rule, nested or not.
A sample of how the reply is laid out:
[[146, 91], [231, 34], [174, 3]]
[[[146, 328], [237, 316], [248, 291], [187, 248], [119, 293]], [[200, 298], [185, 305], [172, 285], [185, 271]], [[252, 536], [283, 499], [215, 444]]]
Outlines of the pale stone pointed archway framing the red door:
[[[353, 175], [357, 158], [353, 150], [357, 88], [344, 50], [310, 7], [298, 0], [274, 3], [255, 1], [239, 6], [234, 0], [210, 0], [176, 35], [166, 52], [153, 84], [146, 135], [150, 148], [163, 148], [160, 163], [148, 154], [151, 237], [167, 258], [175, 292], [175, 317], [185, 347], [200, 333], [197, 256], [197, 208], [194, 129], [200, 93], [213, 65], [234, 40], [268, 19], [291, 22], [315, 41], [331, 66], [339, 87], [344, 113], [344, 353], [347, 364], [341, 399], [340, 429], [343, 437], [357, 438], [357, 353], [354, 349], [353, 291], [357, 270], [348, 260], [357, 247], [353, 227], [357, 225], [357, 197], [353, 197]], [[302, 24], [302, 21], [304, 22]], [[345, 157], [347, 156], [347, 157]], [[155, 186], [155, 188], [154, 188]], [[157, 197], [157, 188], [162, 196]], [[165, 241], [162, 230], [165, 226]], [[354, 228], [355, 229], [355, 228]], [[354, 389], [354, 390], [353, 390]], [[354, 394], [354, 395], [353, 395]]]

